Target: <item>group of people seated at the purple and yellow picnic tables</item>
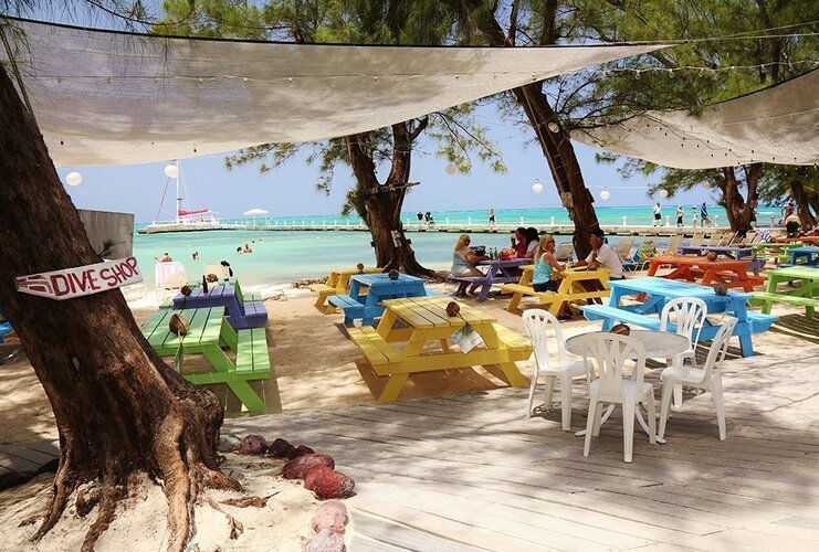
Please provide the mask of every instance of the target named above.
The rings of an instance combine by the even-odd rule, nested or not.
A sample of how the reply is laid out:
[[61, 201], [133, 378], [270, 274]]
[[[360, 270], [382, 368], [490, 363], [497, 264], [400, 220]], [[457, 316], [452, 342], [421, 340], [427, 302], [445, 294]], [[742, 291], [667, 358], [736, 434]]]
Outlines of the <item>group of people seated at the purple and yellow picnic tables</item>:
[[[556, 243], [552, 234], [539, 235], [537, 229], [519, 227], [511, 238], [514, 258], [531, 258], [535, 264], [532, 275], [532, 287], [535, 291], [557, 291], [559, 287], [560, 273], [566, 270], [566, 265], [555, 256]], [[458, 238], [452, 253], [452, 274], [454, 276], [484, 276], [477, 268], [477, 263], [489, 261], [486, 255], [476, 255], [470, 247], [471, 238], [463, 234]], [[589, 237], [591, 253], [575, 263], [575, 266], [588, 266], [591, 269], [599, 267], [611, 270], [609, 279], [623, 279], [622, 261], [617, 252], [606, 243], [602, 231], [596, 231]], [[481, 282], [473, 283], [466, 293], [476, 295]], [[570, 317], [570, 312], [560, 312], [558, 318]]]

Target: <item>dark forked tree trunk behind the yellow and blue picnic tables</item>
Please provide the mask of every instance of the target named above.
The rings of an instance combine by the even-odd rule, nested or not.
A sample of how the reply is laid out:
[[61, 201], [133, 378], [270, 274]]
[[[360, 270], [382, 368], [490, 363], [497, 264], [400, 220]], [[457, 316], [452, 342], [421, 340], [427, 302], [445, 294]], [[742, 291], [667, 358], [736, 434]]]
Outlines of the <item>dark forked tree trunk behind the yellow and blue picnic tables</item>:
[[416, 276], [432, 276], [411, 247], [401, 222], [401, 206], [407, 193], [412, 141], [426, 128], [426, 119], [410, 131], [407, 123], [392, 125], [392, 163], [384, 185], [378, 182], [376, 164], [369, 153], [366, 132], [345, 137], [347, 152], [357, 181], [359, 214], [367, 222], [376, 250], [376, 266]]

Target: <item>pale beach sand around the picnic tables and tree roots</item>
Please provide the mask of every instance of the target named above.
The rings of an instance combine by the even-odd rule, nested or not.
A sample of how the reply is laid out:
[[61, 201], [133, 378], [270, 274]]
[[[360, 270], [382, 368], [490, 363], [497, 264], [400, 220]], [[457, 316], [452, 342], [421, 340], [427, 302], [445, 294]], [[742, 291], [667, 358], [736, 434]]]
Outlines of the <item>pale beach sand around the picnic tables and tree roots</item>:
[[[452, 293], [452, 286], [435, 285], [444, 293]], [[285, 411], [323, 410], [345, 405], [375, 403], [386, 378], [379, 378], [363, 360], [358, 349], [347, 339], [340, 315], [325, 316], [313, 307], [314, 296], [303, 290], [288, 289], [285, 294], [275, 290], [277, 300], [269, 299], [265, 306], [270, 312], [267, 339], [272, 367], [281, 393], [281, 407]], [[493, 314], [500, 323], [524, 333], [519, 315], [504, 310], [506, 298], [490, 298], [479, 304], [474, 299], [465, 301], [486, 312]], [[534, 304], [525, 304], [532, 305]], [[147, 302], [134, 308], [137, 322], [145, 320], [154, 308]], [[805, 344], [802, 339], [816, 342], [806, 328], [800, 309], [781, 308], [776, 312], [785, 322], [784, 328], [754, 336], [757, 354], [783, 350], [798, 351]], [[599, 328], [599, 322], [588, 322], [581, 316], [563, 325], [564, 333], [570, 337]], [[813, 326], [811, 328], [815, 329]], [[800, 335], [801, 332], [801, 335]], [[11, 343], [13, 347], [13, 341]], [[8, 349], [8, 346], [4, 350]], [[519, 362], [518, 367], [528, 378], [532, 361]], [[498, 376], [500, 371], [483, 368], [463, 368], [440, 372], [428, 372], [410, 376], [401, 391], [399, 400], [423, 396], [468, 393], [506, 386]], [[279, 397], [267, 397], [271, 408], [279, 406]], [[522, 414], [523, 415], [523, 405]], [[0, 444], [25, 443], [55, 439], [57, 437], [54, 420], [48, 399], [24, 355], [0, 367], [0, 416], [7, 421], [0, 424]], [[275, 426], [274, 423], [271, 425]], [[266, 435], [269, 439], [277, 435]], [[283, 436], [287, 438], [288, 436]], [[309, 445], [309, 443], [306, 443]], [[332, 450], [326, 453], [333, 454]], [[227, 539], [227, 522], [222, 513], [208, 506], [199, 508], [198, 541], [201, 550], [254, 550], [262, 544], [275, 550], [301, 550], [312, 535], [308, 528], [311, 512], [316, 508], [313, 495], [300, 485], [273, 477], [279, 466], [266, 465], [254, 469], [254, 461], [246, 457], [232, 456], [228, 469], [245, 474], [243, 481], [254, 492], [262, 496], [275, 495], [267, 509], [242, 509], [235, 512], [245, 527], [238, 541]], [[36, 477], [27, 485], [0, 493], [0, 532], [9, 535], [7, 543], [15, 543], [13, 550], [25, 550], [22, 543], [33, 533], [36, 526], [19, 528], [20, 522], [44, 507], [50, 492], [52, 474]], [[149, 486], [150, 487], [150, 486]], [[219, 500], [223, 497], [218, 496]], [[133, 509], [126, 522], [116, 522], [101, 539], [97, 550], [122, 550], [128, 542], [134, 551], [158, 550], [166, 528], [165, 498], [158, 487], [149, 488], [147, 493], [133, 499], [127, 508]], [[271, 514], [271, 509], [273, 514]], [[256, 511], [259, 510], [259, 511]], [[93, 519], [93, 513], [91, 519]], [[56, 552], [76, 549], [71, 543], [82, 539], [88, 518], [81, 519], [66, 513], [67, 523], [59, 524], [59, 530], [49, 535], [36, 550]], [[64, 520], [65, 521], [65, 520]], [[138, 535], [138, 537], [137, 537]], [[22, 548], [21, 548], [22, 546]], [[0, 550], [12, 550], [0, 543]]]

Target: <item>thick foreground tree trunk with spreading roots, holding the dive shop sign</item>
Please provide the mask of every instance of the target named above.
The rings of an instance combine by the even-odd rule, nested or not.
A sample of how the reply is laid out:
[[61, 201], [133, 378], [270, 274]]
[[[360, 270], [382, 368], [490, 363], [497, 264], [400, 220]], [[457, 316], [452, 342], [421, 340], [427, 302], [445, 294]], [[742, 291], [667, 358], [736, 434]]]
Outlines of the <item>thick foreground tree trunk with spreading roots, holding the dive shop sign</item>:
[[217, 466], [221, 406], [154, 352], [119, 290], [64, 301], [15, 290], [17, 276], [101, 258], [2, 66], [0, 128], [0, 304], [60, 434], [60, 467], [36, 538], [54, 527], [77, 486], [92, 481], [99, 502], [83, 544], [91, 550], [127, 497], [130, 476], [146, 473], [161, 481], [168, 498], [168, 550], [182, 550], [201, 488], [239, 488]]

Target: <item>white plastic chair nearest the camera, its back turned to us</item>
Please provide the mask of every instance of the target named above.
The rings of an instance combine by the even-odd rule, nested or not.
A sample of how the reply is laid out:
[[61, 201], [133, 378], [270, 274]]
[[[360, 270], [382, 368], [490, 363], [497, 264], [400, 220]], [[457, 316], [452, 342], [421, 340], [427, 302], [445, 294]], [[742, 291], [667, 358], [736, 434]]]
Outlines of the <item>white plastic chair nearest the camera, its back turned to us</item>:
[[[600, 435], [602, 407], [599, 403], [617, 403], [622, 404], [623, 460], [629, 463], [634, 446], [634, 416], [640, 403], [649, 411], [649, 442], [657, 443], [654, 391], [651, 383], [643, 382], [645, 348], [634, 338], [607, 332], [587, 333], [579, 344], [591, 378], [582, 455], [589, 455], [592, 435]], [[631, 378], [623, 378], [622, 369], [628, 359], [634, 360], [634, 370]]]

